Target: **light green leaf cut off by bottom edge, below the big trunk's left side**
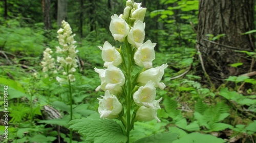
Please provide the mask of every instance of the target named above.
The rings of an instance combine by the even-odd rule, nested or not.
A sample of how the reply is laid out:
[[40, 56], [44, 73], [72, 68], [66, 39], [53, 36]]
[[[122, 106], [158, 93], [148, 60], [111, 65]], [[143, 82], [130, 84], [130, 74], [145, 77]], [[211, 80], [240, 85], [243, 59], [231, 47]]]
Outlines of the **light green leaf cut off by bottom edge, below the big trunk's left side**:
[[223, 143], [225, 140], [209, 134], [190, 133], [181, 137], [179, 140], [175, 140], [173, 143]]

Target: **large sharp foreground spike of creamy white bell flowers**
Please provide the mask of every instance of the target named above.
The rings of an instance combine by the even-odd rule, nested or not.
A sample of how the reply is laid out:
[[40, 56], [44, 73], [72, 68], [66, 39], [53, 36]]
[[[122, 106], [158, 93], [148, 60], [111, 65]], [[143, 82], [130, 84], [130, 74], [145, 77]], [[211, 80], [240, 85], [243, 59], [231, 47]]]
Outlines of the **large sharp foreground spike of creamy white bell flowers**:
[[[127, 124], [125, 126], [133, 125], [135, 121], [156, 119], [160, 122], [157, 110], [161, 109], [159, 102], [162, 98], [156, 100], [156, 88], [164, 89], [165, 84], [160, 80], [168, 65], [163, 64], [153, 68], [156, 43], [152, 43], [151, 40], [144, 42], [145, 13], [146, 8], [142, 8], [141, 3], [128, 0], [123, 14], [119, 16], [114, 14], [111, 17], [112, 36], [115, 40], [123, 42], [125, 47], [116, 49], [106, 41], [103, 47], [99, 46], [106, 68], [95, 67], [101, 80], [101, 85], [96, 88], [96, 92], [100, 89], [105, 91], [105, 96], [101, 96], [103, 99], [98, 99], [100, 117], [121, 119], [121, 116], [124, 116], [127, 122], [132, 121], [130, 124], [121, 120], [124, 125]], [[122, 70], [118, 68], [119, 65]], [[135, 65], [142, 66], [142, 71], [133, 74]], [[124, 107], [125, 114], [123, 114]], [[135, 108], [130, 118], [132, 107]]]

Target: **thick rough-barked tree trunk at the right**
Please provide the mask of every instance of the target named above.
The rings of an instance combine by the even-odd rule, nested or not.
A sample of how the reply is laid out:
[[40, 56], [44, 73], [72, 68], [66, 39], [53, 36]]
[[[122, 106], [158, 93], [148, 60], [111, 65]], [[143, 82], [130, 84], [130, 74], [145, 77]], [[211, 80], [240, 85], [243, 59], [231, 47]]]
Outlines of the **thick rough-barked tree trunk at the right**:
[[[241, 35], [254, 29], [253, 12], [254, 0], [200, 0], [196, 46], [211, 80], [223, 82], [228, 76], [244, 74], [252, 68], [251, 60], [235, 50], [254, 51], [254, 37]], [[207, 34], [225, 36], [214, 40]], [[229, 65], [237, 62], [243, 65]]]

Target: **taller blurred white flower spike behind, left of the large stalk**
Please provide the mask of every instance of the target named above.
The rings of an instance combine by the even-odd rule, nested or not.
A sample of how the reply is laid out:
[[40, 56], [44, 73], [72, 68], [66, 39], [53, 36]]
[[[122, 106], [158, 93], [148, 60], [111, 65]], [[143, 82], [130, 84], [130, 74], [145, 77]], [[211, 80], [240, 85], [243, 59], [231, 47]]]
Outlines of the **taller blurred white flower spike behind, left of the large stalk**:
[[[62, 54], [62, 57], [57, 57], [57, 62], [60, 63], [59, 69], [63, 68], [62, 75], [67, 76], [70, 82], [75, 81], [74, 72], [77, 67], [76, 60], [76, 41], [74, 40], [75, 34], [72, 34], [72, 29], [68, 22], [62, 21], [62, 28], [58, 31], [57, 38], [59, 39], [59, 44], [61, 47], [56, 46], [56, 53]], [[56, 80], [60, 83], [66, 81], [66, 79], [56, 77]]]

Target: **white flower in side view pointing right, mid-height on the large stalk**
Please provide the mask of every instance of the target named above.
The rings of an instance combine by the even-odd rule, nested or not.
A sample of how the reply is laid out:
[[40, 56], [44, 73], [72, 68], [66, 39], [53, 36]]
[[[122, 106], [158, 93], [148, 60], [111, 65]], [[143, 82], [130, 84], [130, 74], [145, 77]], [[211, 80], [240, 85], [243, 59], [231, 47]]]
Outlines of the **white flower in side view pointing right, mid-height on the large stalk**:
[[164, 83], [160, 83], [160, 80], [162, 79], [162, 76], [164, 74], [164, 69], [167, 67], [166, 64], [162, 64], [161, 66], [157, 66], [155, 68], [150, 68], [142, 73], [140, 73], [137, 82], [142, 83], [145, 85], [148, 81], [152, 81], [155, 84], [155, 87], [159, 87], [160, 89], [163, 89], [165, 87]]

